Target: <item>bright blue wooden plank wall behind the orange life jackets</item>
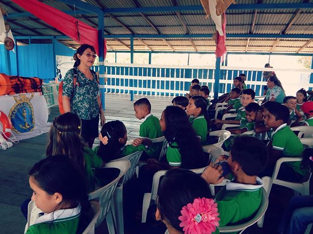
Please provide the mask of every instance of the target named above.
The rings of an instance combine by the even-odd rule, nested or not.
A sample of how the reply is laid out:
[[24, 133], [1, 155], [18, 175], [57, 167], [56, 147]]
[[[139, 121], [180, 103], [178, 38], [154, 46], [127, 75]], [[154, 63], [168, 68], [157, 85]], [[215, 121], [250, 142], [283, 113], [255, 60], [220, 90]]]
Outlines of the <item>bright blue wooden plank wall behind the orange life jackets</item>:
[[55, 41], [54, 44], [28, 44], [19, 45], [15, 48], [15, 53], [9, 52], [11, 73], [6, 61], [4, 45], [0, 44], [0, 73], [7, 75], [19, 75], [22, 77], [39, 77], [53, 80], [55, 75], [55, 65], [53, 58], [55, 55], [73, 56], [74, 50], [62, 43]]

